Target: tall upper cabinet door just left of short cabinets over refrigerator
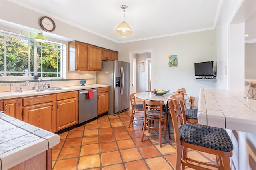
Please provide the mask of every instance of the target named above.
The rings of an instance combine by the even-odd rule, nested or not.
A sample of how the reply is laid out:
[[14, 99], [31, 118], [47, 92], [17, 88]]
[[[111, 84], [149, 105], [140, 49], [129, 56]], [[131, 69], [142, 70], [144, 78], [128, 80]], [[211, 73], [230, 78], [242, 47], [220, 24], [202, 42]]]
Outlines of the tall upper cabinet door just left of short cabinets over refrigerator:
[[88, 45], [88, 70], [101, 71], [102, 48]]

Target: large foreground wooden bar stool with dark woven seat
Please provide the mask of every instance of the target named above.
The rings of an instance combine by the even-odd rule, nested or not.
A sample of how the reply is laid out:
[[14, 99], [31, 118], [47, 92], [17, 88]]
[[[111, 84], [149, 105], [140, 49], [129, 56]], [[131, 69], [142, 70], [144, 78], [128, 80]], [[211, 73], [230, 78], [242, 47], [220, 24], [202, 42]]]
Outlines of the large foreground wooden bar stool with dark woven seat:
[[[184, 170], [188, 166], [197, 170], [230, 170], [230, 157], [232, 156], [233, 144], [228, 133], [223, 128], [210, 127], [198, 123], [186, 123], [182, 120], [186, 117], [182, 113], [183, 98], [181, 93], [168, 97], [168, 106], [174, 127], [174, 138], [176, 142], [176, 167], [175, 170]], [[188, 148], [214, 154], [216, 164], [209, 164], [202, 160], [188, 157]], [[201, 166], [200, 166], [201, 165]], [[209, 168], [205, 168], [205, 166]]]

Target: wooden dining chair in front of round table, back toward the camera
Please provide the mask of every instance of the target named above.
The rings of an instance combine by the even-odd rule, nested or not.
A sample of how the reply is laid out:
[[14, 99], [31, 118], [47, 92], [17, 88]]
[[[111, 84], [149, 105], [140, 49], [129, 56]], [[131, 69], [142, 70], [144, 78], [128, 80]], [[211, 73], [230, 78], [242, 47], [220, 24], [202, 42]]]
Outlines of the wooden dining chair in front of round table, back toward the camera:
[[[141, 142], [143, 142], [145, 129], [148, 128], [148, 133], [150, 129], [159, 130], [159, 144], [162, 147], [162, 129], [164, 129], [164, 137], [166, 136], [166, 112], [162, 111], [164, 101], [143, 101], [144, 109], [144, 123], [142, 129]], [[154, 126], [152, 121], [158, 121], [159, 126]]]

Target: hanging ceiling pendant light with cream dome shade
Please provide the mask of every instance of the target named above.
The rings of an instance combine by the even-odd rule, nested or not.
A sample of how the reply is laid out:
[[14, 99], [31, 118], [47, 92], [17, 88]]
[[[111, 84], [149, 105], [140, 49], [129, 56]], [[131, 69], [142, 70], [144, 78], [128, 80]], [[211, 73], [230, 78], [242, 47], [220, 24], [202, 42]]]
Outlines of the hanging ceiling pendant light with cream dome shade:
[[[127, 7], [128, 7], [127, 5], [121, 6], [121, 8], [124, 11]], [[120, 24], [118, 24], [118, 26], [116, 26], [116, 28], [114, 30], [114, 34], [116, 36], [120, 36], [120, 37], [129, 37], [129, 36], [134, 35], [134, 31], [133, 31], [132, 26], [130, 26], [127, 22], [123, 21]]]

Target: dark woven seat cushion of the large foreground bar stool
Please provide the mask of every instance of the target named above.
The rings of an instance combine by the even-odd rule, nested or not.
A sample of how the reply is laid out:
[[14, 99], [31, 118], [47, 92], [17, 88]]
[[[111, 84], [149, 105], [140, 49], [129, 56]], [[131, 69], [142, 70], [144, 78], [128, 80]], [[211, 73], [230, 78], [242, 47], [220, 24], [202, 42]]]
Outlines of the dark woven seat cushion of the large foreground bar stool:
[[223, 128], [188, 123], [180, 125], [179, 130], [183, 142], [225, 152], [233, 150], [231, 139]]

